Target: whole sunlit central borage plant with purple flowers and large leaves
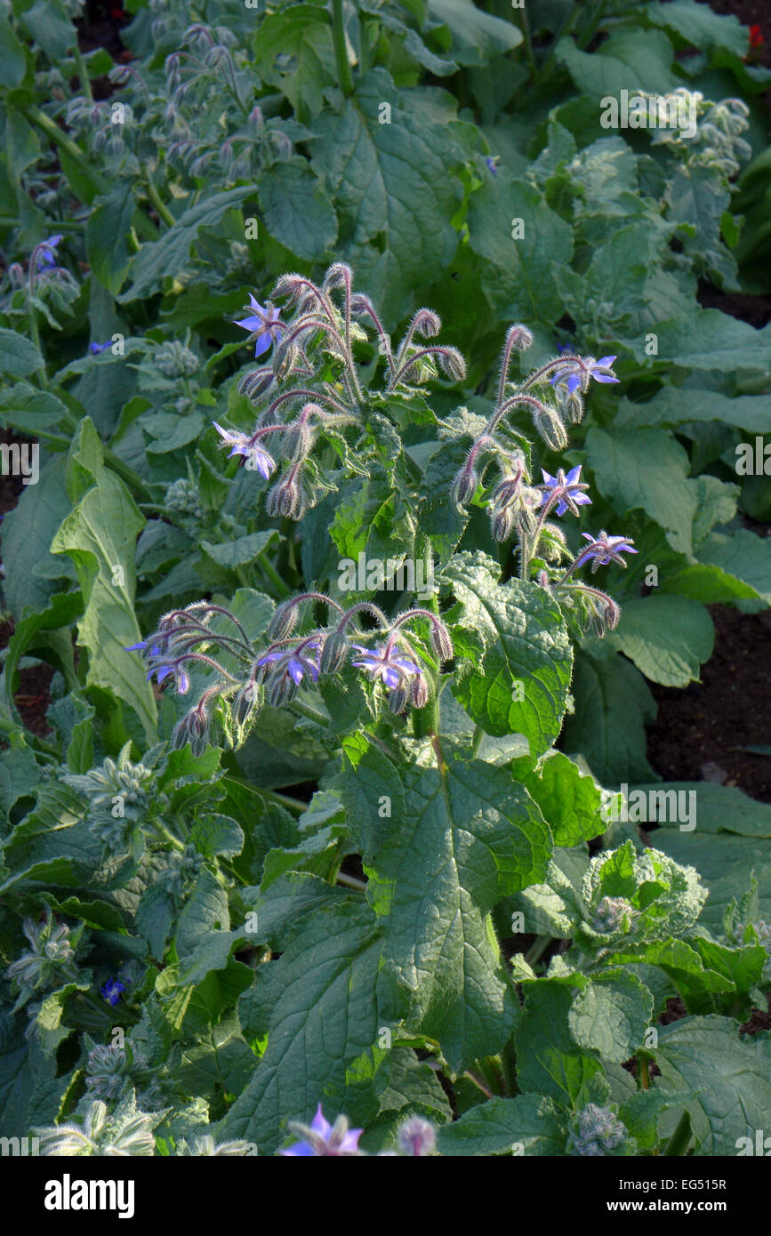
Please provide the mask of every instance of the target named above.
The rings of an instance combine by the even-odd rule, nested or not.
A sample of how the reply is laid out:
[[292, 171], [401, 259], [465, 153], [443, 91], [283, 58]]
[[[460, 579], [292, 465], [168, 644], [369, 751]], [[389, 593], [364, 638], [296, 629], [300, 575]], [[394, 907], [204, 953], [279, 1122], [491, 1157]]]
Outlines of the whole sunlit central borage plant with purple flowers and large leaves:
[[[516, 378], [531, 336], [514, 325], [494, 407], [440, 418], [420, 387], [465, 366], [434, 342], [434, 313], [418, 310], [394, 347], [342, 265], [320, 287], [285, 276], [273, 297], [293, 315], [251, 298], [241, 323], [258, 355], [272, 349], [241, 383], [256, 424], [216, 431], [255, 487], [271, 485], [269, 515], [299, 522], [326, 503], [332, 541], [363, 544], [376, 596], [345, 597], [339, 570], [327, 592], [282, 602], [262, 637], [199, 601], [132, 649], [148, 679], [195, 696], [173, 748], [241, 748], [284, 709], [289, 732], [329, 756], [294, 845], [274, 852], [258, 885], [231, 887], [243, 926], [215, 931], [189, 959], [200, 976], [236, 964], [229, 954], [245, 944], [261, 959], [280, 953], [237, 1004], [263, 1049], [222, 1136], [269, 1152], [294, 1131], [285, 1154], [596, 1156], [651, 1152], [666, 1133], [683, 1152], [685, 1096], [666, 1084], [650, 1093], [650, 1059], [666, 1062], [654, 1026], [662, 995], [694, 1014], [736, 1014], [749, 993], [740, 965], [755, 985], [765, 953], [712, 941], [697, 926], [696, 871], [635, 854], [636, 837], [589, 858], [615, 796], [554, 747], [571, 706], [571, 635], [602, 637], [620, 617], [594, 575], [636, 552], [623, 533], [576, 538], [566, 527], [592, 499], [581, 465], [557, 457], [592, 382], [618, 381], [615, 357], [563, 352]], [[540, 480], [523, 415], [549, 452]], [[429, 451], [416, 440], [424, 425], [437, 435]], [[379, 528], [346, 523], [372, 494], [388, 509]], [[498, 557], [466, 548], [482, 535], [477, 515]], [[403, 576], [420, 550], [434, 580], [439, 555], [426, 606], [414, 571], [395, 603], [389, 567], [371, 576], [374, 545]], [[353, 855], [366, 879], [351, 874]], [[535, 937], [526, 955], [523, 936]], [[714, 973], [715, 950], [736, 984], [704, 994], [697, 975]], [[619, 1069], [635, 1054], [636, 1084]], [[382, 1099], [394, 1086], [395, 1106]], [[343, 1112], [334, 1125], [321, 1101]]]

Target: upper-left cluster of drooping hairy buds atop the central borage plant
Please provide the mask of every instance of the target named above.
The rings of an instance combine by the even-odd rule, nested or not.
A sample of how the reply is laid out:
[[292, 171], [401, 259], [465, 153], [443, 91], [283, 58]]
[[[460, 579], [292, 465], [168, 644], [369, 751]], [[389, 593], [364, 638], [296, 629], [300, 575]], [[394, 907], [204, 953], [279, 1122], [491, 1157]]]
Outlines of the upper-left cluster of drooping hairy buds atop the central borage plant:
[[[335, 262], [321, 284], [301, 274], [284, 274], [272, 297], [284, 298], [284, 309], [294, 315], [282, 320], [273, 300], [264, 305], [250, 294], [246, 316], [237, 325], [247, 330], [255, 356], [271, 349], [272, 363], [251, 370], [240, 383], [240, 392], [258, 409], [252, 433], [215, 429], [230, 455], [242, 456], [245, 466], [267, 481], [284, 461], [280, 477], [266, 499], [273, 518], [301, 519], [308, 508], [332, 487], [311, 457], [319, 439], [332, 439], [345, 446], [345, 430], [362, 428], [362, 413], [369, 400], [353, 355], [356, 344], [371, 344], [362, 325], [377, 334], [377, 349], [386, 361], [386, 384], [379, 398], [397, 389], [409, 391], [441, 371], [449, 381], [466, 376], [466, 363], [455, 347], [423, 344], [441, 330], [441, 320], [430, 309], [419, 309], [397, 349], [368, 297], [353, 292], [348, 266]], [[334, 370], [330, 381], [330, 366]], [[324, 377], [321, 377], [321, 371]], [[301, 384], [293, 384], [301, 379]], [[273, 447], [278, 435], [278, 447]]]

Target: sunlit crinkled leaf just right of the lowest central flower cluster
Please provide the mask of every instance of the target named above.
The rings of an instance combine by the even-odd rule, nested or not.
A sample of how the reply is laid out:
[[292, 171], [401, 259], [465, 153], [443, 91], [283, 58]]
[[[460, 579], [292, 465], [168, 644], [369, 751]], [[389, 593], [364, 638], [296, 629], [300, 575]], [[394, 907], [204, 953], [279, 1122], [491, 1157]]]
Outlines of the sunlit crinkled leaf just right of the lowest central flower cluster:
[[461, 604], [458, 624], [486, 644], [455, 688], [458, 702], [488, 734], [524, 734], [531, 756], [542, 754], [560, 733], [571, 680], [558, 606], [536, 583], [497, 583], [486, 555], [457, 554], [442, 574]]

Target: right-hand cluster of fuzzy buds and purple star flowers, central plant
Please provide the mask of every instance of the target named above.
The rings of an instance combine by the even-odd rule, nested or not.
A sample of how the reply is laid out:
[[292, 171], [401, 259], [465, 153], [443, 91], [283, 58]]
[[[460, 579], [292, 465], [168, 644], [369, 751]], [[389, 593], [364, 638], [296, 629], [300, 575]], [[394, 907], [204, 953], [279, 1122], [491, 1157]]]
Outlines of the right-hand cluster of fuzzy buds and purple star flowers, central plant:
[[[578, 515], [579, 507], [591, 506], [592, 499], [586, 492], [588, 486], [581, 480], [581, 465], [568, 472], [557, 468], [554, 476], [541, 468], [542, 481], [536, 483], [521, 451], [512, 450], [502, 441], [499, 426], [507, 413], [525, 407], [546, 446], [563, 450], [568, 442], [568, 426], [583, 417], [583, 397], [589, 383], [618, 382], [612, 368], [615, 356], [594, 360], [592, 356], [562, 352], [513, 387], [509, 382], [513, 353], [524, 351], [531, 344], [533, 335], [525, 326], [509, 328], [495, 407], [452, 482], [451, 498], [456, 506], [463, 507], [477, 494], [486, 494], [494, 539], [507, 541], [510, 536], [516, 538], [520, 577], [529, 580], [535, 566], [542, 587], [555, 595], [575, 595], [596, 633], [602, 637], [618, 625], [620, 609], [605, 592], [573, 580], [572, 575], [588, 561], [592, 561], [592, 571], [609, 562], [625, 566], [621, 554], [636, 554], [633, 541], [625, 536], [609, 536], [604, 530], [597, 536], [583, 533], [589, 545], [575, 556], [567, 571], [560, 574], [560, 564], [571, 555], [562, 528], [550, 517], [558, 519], [566, 512]], [[539, 387], [541, 391], [535, 394]], [[489, 465], [497, 467], [498, 478], [484, 491], [484, 472]]]

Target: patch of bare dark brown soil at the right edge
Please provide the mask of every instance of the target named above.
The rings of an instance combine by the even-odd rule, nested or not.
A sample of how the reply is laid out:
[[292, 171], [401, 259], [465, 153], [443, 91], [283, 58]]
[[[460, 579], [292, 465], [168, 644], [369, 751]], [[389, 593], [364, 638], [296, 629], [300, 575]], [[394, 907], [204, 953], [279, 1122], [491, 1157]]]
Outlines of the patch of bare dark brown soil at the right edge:
[[647, 727], [649, 759], [666, 781], [717, 780], [771, 802], [771, 756], [736, 749], [771, 744], [771, 611], [709, 612], [715, 649], [701, 684], [651, 686], [659, 716]]

